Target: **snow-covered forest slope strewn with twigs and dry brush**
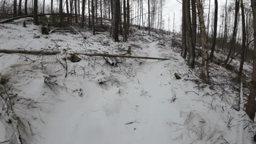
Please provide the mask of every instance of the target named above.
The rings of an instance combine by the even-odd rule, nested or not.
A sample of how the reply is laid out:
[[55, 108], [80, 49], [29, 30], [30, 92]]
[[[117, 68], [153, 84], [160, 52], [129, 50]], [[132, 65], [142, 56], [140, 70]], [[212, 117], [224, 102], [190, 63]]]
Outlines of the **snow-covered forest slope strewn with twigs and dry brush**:
[[[201, 82], [200, 70], [171, 46], [173, 35], [149, 37], [133, 28], [127, 43], [114, 43], [107, 32], [42, 35], [30, 19], [27, 28], [22, 21], [0, 25], [0, 49], [125, 54], [132, 46], [133, 56], [170, 58], [117, 58], [113, 67], [102, 57], [79, 56], [66, 66], [65, 55], [0, 53], [0, 74], [10, 75], [8, 93], [16, 94], [14, 111], [27, 122], [28, 143], [254, 143], [254, 123], [232, 108], [240, 87], [219, 86], [214, 77], [234, 72], [212, 64], [213, 85]], [[1, 120], [0, 142], [13, 136]]]

